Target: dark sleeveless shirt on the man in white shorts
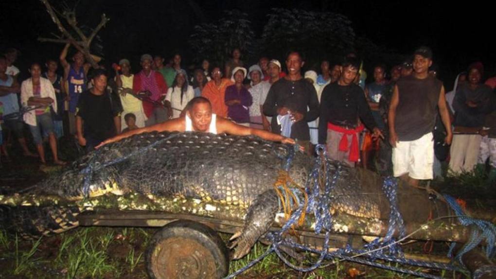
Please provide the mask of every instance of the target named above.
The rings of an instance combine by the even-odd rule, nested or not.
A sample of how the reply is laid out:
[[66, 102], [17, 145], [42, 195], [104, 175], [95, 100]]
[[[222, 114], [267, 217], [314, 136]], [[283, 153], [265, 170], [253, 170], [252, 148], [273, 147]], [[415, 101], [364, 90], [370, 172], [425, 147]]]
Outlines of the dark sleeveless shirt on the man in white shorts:
[[398, 86], [398, 106], [394, 128], [398, 139], [412, 141], [434, 129], [442, 82], [433, 77], [402, 77]]

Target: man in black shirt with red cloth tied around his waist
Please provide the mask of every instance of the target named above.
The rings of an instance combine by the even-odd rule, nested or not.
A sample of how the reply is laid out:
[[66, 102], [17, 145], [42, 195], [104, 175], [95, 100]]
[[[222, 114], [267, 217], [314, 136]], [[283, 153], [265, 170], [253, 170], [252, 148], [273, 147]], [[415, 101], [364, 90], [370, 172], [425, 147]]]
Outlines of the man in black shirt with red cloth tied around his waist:
[[353, 81], [360, 68], [356, 58], [343, 63], [339, 80], [327, 85], [320, 97], [318, 143], [327, 143], [327, 155], [355, 167], [360, 157], [358, 134], [364, 129], [359, 118], [373, 132], [373, 137], [383, 137], [372, 116], [362, 88]]

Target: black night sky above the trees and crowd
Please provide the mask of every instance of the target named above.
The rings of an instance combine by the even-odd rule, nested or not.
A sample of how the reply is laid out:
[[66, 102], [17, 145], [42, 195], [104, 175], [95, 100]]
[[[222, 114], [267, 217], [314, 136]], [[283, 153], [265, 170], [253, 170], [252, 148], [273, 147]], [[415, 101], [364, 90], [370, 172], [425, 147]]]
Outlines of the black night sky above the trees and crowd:
[[[71, 0], [75, 2], [74, 0]], [[68, 3], [71, 3], [68, 1]], [[56, 1], [52, 1], [56, 2]], [[105, 12], [111, 21], [101, 31], [106, 61], [121, 56], [136, 60], [149, 52], [172, 55], [179, 51], [187, 61], [187, 38], [195, 24], [218, 19], [222, 10], [239, 9], [249, 14], [259, 34], [271, 7], [333, 11], [348, 16], [357, 35], [401, 54], [410, 54], [420, 45], [431, 46], [440, 78], [451, 83], [453, 75], [474, 60], [482, 60], [487, 70], [496, 64], [494, 11], [489, 2], [470, 1], [312, 1], [312, 0], [80, 0], [80, 23], [95, 26]], [[0, 4], [0, 47], [21, 50], [19, 64], [26, 68], [33, 60], [56, 58], [62, 45], [39, 43], [40, 35], [57, 32], [44, 5], [38, 0], [4, 0]], [[449, 88], [450, 86], [447, 85]]]

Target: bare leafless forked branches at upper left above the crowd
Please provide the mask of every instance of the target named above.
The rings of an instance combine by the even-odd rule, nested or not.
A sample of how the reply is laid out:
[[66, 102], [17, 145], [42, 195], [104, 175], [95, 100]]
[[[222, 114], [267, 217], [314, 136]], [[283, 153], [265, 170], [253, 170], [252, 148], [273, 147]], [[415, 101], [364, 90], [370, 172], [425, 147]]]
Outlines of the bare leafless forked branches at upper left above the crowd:
[[[57, 28], [62, 34], [56, 35], [52, 33], [55, 38], [40, 37], [38, 38], [38, 40], [40, 42], [52, 42], [52, 43], [62, 43], [62, 44], [70, 43], [78, 51], [83, 53], [83, 55], [86, 57], [86, 60], [89, 63], [91, 63], [91, 65], [94, 68], [98, 67], [98, 64], [91, 56], [90, 47], [91, 47], [91, 43], [97, 36], [98, 31], [100, 31], [100, 29], [102, 29], [105, 26], [105, 24], [109, 21], [109, 19], [105, 16], [105, 14], [102, 14], [100, 23], [94, 29], [86, 31], [84, 30], [84, 28], [78, 26], [76, 20], [76, 12], [74, 9], [69, 9], [65, 5], [61, 13], [56, 9], [54, 9], [48, 0], [41, 0], [41, 2], [47, 8], [47, 12], [50, 14], [50, 17], [57, 25]], [[65, 24], [61, 22], [58, 15], [61, 15], [65, 19], [66, 22]], [[84, 32], [83, 30], [86, 32]]]

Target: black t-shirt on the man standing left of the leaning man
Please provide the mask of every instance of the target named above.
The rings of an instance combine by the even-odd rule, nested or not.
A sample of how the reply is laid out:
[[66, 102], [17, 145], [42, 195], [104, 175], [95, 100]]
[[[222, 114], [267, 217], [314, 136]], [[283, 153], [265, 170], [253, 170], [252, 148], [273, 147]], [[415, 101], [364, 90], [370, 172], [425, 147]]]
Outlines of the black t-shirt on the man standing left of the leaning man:
[[122, 112], [119, 98], [105, 92], [95, 95], [84, 91], [77, 102], [76, 115], [84, 121], [84, 137], [104, 141], [116, 135], [114, 116]]

